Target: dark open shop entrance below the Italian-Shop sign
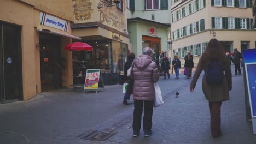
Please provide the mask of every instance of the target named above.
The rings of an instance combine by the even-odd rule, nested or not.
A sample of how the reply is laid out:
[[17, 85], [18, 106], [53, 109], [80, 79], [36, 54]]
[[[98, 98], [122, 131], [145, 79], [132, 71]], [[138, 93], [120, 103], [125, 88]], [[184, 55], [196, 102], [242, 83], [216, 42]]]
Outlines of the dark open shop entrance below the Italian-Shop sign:
[[60, 89], [61, 38], [56, 35], [40, 34], [40, 71], [42, 92]]

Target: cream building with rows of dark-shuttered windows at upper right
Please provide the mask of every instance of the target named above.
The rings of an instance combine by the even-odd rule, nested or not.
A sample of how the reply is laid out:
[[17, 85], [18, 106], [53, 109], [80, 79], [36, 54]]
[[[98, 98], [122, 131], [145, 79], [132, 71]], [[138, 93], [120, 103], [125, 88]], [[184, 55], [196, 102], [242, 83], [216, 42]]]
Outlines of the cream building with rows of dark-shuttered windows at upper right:
[[194, 56], [195, 66], [207, 42], [216, 38], [225, 52], [232, 53], [255, 47], [252, 1], [249, 0], [184, 0], [172, 1], [171, 55], [184, 64], [187, 52]]

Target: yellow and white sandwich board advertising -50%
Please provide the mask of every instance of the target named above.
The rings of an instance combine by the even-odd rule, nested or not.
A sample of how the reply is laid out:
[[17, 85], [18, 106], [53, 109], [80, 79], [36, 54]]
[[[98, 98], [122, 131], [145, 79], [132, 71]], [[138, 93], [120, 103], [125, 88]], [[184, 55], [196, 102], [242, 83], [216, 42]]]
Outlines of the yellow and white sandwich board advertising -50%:
[[98, 93], [98, 83], [100, 80], [103, 83], [101, 69], [87, 69], [84, 83], [84, 93], [86, 90], [96, 90], [96, 93]]

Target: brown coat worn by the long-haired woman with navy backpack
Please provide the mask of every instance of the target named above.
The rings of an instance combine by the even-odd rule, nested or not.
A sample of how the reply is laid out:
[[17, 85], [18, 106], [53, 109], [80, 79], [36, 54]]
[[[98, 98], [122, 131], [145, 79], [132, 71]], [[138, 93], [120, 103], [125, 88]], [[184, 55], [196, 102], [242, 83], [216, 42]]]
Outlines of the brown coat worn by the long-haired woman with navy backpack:
[[[193, 76], [193, 80], [191, 81], [191, 84], [190, 84], [191, 88], [195, 88], [196, 82], [202, 70], [206, 68], [205, 63], [206, 62], [204, 62], [202, 58], [199, 59], [195, 74]], [[229, 91], [231, 91], [232, 89], [232, 75], [231, 75], [229, 59], [227, 57], [225, 57], [223, 61], [223, 70], [224, 70], [225, 76], [224, 76], [223, 83], [220, 85], [209, 85], [206, 82], [205, 75], [203, 75], [202, 91], [203, 91], [203, 94], [205, 94], [205, 98], [210, 102], [229, 100]]]

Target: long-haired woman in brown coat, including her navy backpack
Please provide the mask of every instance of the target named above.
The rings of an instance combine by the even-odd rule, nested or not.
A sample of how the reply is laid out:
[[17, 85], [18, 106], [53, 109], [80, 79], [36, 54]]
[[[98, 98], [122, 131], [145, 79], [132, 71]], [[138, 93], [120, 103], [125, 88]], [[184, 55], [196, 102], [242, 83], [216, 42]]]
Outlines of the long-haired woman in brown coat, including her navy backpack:
[[190, 83], [190, 92], [194, 91], [202, 70], [205, 71], [202, 79], [202, 91], [209, 101], [211, 134], [213, 137], [219, 137], [222, 135], [220, 130], [220, 107], [222, 101], [229, 100], [232, 76], [229, 59], [223, 53], [223, 48], [217, 39], [211, 39], [205, 52], [202, 53], [193, 80]]

